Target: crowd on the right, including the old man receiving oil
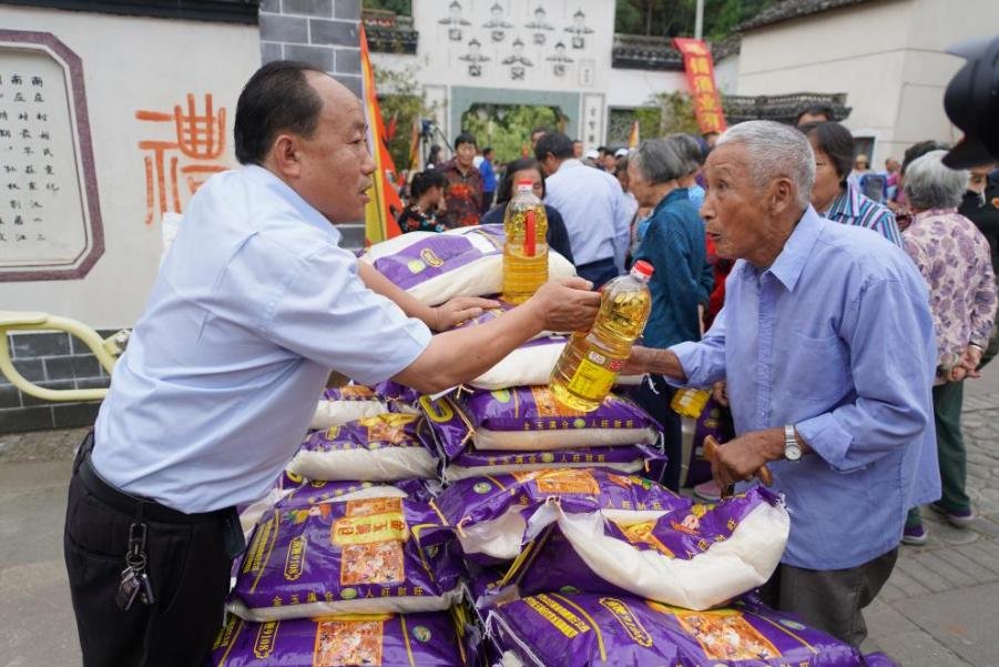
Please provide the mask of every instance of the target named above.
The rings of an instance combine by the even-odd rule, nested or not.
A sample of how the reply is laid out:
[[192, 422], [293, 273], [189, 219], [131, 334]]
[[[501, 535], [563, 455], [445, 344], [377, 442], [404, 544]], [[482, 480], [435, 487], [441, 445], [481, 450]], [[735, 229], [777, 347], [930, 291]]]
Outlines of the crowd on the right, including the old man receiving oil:
[[[958, 527], [975, 518], [960, 414], [965, 380], [997, 350], [997, 164], [949, 169], [949, 146], [925, 141], [871, 171], [822, 104], [794, 125], [742, 123], [632, 150], [583, 152], [546, 129], [531, 142], [533, 159], [507, 165], [495, 205], [480, 184], [467, 188], [480, 183], [468, 134], [456, 143], [469, 146], [472, 175], [453, 161], [424, 173], [447, 174], [441, 205], [486, 211], [451, 224], [501, 223], [511, 181], [530, 178], [552, 247], [594, 287], [639, 259], [655, 267], [631, 370], [650, 373], [634, 397], [663, 426], [662, 482], [681, 484], [672, 396], [712, 386], [738, 437], [695, 495], [717, 499], [724, 479], [775, 467], [795, 529], [765, 593], [859, 643], [860, 609], [899, 540], [927, 540], [920, 505]], [[792, 444], [817, 456], [798, 466], [785, 455]]]

